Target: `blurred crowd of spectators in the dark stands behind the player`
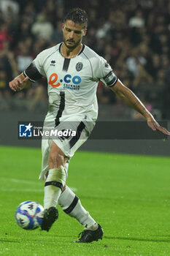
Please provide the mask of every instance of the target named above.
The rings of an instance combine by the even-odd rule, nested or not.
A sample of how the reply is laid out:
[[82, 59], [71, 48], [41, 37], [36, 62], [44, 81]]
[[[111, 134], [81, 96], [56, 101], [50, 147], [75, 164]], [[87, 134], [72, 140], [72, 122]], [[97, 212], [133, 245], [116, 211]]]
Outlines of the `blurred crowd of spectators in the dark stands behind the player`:
[[[109, 61], [151, 112], [170, 118], [170, 0], [0, 0], [0, 108], [9, 108], [11, 97], [21, 105], [29, 99], [32, 109], [47, 101], [45, 79], [18, 93], [8, 83], [62, 41], [63, 17], [72, 7], [88, 12], [85, 45]], [[98, 102], [122, 104], [101, 82]]]

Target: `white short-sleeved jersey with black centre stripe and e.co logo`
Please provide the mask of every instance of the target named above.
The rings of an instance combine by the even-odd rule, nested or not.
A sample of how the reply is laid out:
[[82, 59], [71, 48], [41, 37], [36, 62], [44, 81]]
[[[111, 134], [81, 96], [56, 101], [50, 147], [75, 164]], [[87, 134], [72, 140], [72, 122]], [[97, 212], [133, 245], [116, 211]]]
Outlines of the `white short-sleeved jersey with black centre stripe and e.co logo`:
[[36, 73], [33, 74], [28, 68], [24, 74], [32, 81], [41, 76], [47, 78], [49, 110], [57, 113], [58, 121], [65, 121], [68, 116], [73, 121], [74, 116], [80, 117], [80, 120], [96, 121], [98, 80], [106, 86], [114, 86], [117, 77], [107, 61], [88, 46], [82, 45], [76, 57], [66, 59], [61, 54], [62, 44], [39, 53], [31, 64]]

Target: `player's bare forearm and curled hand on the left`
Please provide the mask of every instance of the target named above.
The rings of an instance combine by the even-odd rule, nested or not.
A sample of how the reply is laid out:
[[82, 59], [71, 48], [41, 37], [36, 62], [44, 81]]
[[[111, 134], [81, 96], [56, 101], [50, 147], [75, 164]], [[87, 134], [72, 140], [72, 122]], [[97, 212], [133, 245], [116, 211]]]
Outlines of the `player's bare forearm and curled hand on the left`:
[[21, 73], [17, 78], [14, 78], [9, 82], [9, 88], [12, 89], [12, 91], [20, 91], [23, 88], [30, 86], [30, 84], [31, 81], [29, 78]]

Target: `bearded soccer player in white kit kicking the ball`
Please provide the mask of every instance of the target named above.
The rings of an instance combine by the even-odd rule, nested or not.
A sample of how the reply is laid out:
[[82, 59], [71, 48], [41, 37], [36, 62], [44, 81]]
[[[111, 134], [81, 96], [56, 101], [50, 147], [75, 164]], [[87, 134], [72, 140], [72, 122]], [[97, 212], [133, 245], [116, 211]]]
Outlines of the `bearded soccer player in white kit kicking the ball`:
[[136, 95], [121, 83], [107, 61], [82, 44], [87, 26], [88, 18], [84, 10], [70, 10], [63, 20], [63, 42], [39, 53], [31, 65], [9, 83], [10, 89], [20, 91], [28, 83], [45, 76], [49, 110], [44, 126], [50, 123], [54, 129], [76, 131], [74, 137], [57, 135], [48, 140], [42, 139], [42, 172], [39, 178], [45, 179], [42, 230], [50, 230], [58, 218], [56, 206], [60, 205], [66, 214], [76, 218], [85, 227], [77, 241], [82, 243], [98, 241], [103, 236], [103, 229], [82, 207], [77, 195], [66, 186], [66, 178], [69, 159], [88, 139], [98, 115], [98, 80], [141, 113], [152, 130], [170, 135], [166, 128], [155, 121]]

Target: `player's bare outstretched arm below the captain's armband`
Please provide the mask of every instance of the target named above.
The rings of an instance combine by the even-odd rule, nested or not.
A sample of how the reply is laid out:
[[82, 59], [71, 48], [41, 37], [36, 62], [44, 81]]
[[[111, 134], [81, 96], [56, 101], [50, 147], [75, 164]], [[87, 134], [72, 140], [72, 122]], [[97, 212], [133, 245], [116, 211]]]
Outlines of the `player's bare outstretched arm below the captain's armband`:
[[170, 132], [166, 128], [161, 127], [158, 122], [155, 121], [155, 118], [147, 110], [147, 108], [144, 107], [140, 99], [136, 97], [136, 95], [130, 89], [124, 86], [119, 79], [114, 86], [110, 87], [110, 89], [117, 94], [117, 97], [123, 99], [126, 104], [130, 105], [132, 108], [141, 113], [142, 116], [147, 119], [147, 124], [153, 131], [158, 129], [158, 131], [163, 132], [163, 134], [170, 135]]

